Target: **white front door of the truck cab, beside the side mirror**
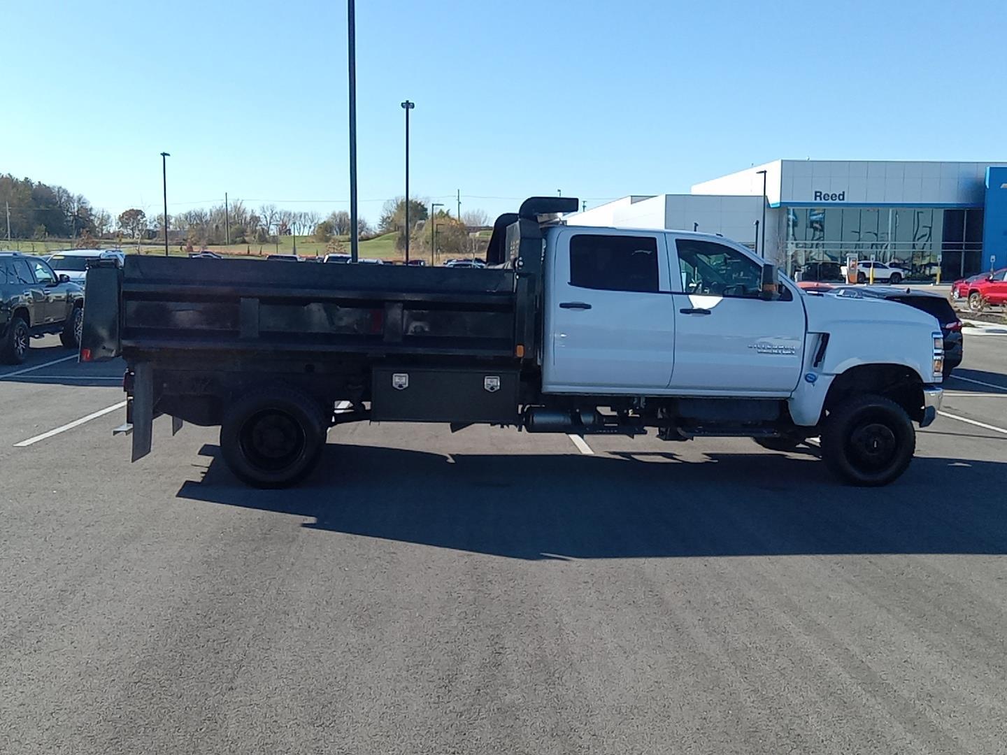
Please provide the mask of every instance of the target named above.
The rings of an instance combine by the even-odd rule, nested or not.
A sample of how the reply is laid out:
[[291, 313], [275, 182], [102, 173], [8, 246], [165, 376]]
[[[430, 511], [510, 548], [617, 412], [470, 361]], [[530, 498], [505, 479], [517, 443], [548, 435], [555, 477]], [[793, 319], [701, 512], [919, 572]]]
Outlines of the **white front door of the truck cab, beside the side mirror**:
[[669, 235], [675, 280], [675, 372], [685, 395], [786, 396], [804, 362], [806, 317], [785, 285], [761, 294], [762, 262], [734, 246]]

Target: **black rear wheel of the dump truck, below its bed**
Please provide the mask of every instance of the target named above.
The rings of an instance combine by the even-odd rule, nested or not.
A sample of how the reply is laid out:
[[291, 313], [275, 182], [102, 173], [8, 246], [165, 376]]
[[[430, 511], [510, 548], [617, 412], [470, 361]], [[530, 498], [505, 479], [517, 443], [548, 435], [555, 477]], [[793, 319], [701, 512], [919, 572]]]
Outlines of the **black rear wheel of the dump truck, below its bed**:
[[255, 487], [287, 487], [314, 469], [325, 445], [317, 402], [289, 388], [254, 391], [231, 405], [221, 425], [221, 453]]

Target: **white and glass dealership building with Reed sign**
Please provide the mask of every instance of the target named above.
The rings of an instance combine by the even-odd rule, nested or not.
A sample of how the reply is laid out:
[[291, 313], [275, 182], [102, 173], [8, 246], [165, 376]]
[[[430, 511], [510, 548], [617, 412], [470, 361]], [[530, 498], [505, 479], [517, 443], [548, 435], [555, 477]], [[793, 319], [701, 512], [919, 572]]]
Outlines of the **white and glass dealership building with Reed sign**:
[[792, 274], [855, 257], [953, 280], [1007, 267], [1007, 162], [775, 160], [565, 219], [720, 234]]

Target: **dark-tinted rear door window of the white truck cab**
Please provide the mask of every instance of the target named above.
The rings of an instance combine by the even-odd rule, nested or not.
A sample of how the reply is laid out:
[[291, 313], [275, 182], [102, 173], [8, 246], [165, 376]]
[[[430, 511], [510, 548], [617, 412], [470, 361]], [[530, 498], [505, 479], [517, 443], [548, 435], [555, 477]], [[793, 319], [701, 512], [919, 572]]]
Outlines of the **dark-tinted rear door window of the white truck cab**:
[[658, 240], [593, 234], [573, 237], [570, 285], [604, 291], [656, 292]]

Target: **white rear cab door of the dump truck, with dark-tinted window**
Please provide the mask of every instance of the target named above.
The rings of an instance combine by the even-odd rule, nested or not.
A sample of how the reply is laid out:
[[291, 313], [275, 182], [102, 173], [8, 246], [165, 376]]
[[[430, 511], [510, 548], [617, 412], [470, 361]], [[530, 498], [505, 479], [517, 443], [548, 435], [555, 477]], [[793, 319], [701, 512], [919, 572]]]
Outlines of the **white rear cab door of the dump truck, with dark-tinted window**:
[[664, 233], [558, 229], [548, 244], [543, 390], [667, 389], [675, 305]]

